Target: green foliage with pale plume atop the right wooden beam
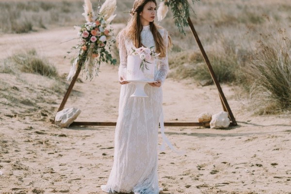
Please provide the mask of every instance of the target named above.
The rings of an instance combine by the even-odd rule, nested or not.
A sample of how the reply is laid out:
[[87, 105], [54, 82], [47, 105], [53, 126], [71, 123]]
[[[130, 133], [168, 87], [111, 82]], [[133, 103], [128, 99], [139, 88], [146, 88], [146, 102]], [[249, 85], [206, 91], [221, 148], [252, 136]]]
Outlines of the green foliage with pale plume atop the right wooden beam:
[[[192, 0], [193, 3], [194, 1], [199, 0]], [[188, 26], [187, 19], [190, 16], [190, 3], [188, 2], [188, 0], [161, 0], [157, 11], [159, 21], [161, 21], [167, 15], [169, 10], [168, 7], [171, 7], [171, 10], [173, 12], [173, 19], [179, 31], [185, 34], [183, 26]]]

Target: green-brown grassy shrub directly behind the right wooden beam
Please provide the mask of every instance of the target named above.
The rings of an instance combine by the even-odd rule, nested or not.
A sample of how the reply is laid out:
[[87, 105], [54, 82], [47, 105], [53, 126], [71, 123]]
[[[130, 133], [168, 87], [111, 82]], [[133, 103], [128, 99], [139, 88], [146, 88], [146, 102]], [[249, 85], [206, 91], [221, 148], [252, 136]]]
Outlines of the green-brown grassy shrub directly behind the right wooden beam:
[[[242, 82], [241, 68], [250, 59], [250, 52], [238, 49], [232, 40], [223, 38], [222, 49], [208, 51], [208, 58], [219, 82]], [[171, 54], [169, 57], [170, 69], [173, 69], [169, 77], [194, 78], [196, 81], [213, 83], [210, 72], [200, 51], [182, 51]]]

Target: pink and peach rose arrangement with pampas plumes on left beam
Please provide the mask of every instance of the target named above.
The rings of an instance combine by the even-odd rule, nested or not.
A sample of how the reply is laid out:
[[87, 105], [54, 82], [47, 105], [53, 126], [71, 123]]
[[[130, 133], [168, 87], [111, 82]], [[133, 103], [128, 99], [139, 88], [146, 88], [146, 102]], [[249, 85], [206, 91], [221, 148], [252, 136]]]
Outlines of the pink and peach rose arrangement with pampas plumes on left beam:
[[116, 59], [113, 59], [111, 52], [113, 39], [113, 29], [110, 23], [116, 15], [116, 0], [106, 0], [102, 6], [98, 7], [97, 14], [94, 14], [92, 3], [90, 0], [84, 0], [84, 13], [82, 14], [86, 23], [81, 25], [79, 36], [79, 44], [73, 49], [78, 50], [77, 57], [71, 61], [71, 70], [67, 76], [67, 80], [73, 78], [78, 68], [87, 72], [90, 80], [99, 72], [101, 62], [115, 65]]

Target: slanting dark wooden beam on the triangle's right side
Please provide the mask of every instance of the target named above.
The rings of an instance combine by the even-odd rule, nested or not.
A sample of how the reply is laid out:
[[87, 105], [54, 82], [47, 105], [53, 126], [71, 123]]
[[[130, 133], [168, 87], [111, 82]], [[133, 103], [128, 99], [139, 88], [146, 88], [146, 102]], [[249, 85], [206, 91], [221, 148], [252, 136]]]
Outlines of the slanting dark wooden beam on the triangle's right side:
[[235, 118], [234, 118], [234, 116], [233, 116], [233, 114], [231, 112], [231, 109], [230, 109], [230, 107], [228, 105], [226, 97], [225, 97], [225, 95], [224, 95], [224, 93], [223, 93], [223, 91], [221, 89], [221, 86], [220, 86], [220, 84], [219, 84], [219, 82], [218, 82], [218, 80], [217, 80], [217, 78], [215, 76], [215, 73], [214, 73], [213, 68], [212, 68], [212, 66], [210, 64], [208, 56], [207, 56], [207, 54], [206, 54], [206, 52], [205, 52], [205, 50], [204, 50], [204, 48], [202, 46], [202, 43], [201, 43], [201, 41], [200, 41], [200, 39], [198, 37], [198, 34], [197, 34], [196, 30], [194, 29], [194, 25], [193, 25], [190, 17], [188, 17], [187, 21], [188, 21], [188, 24], [189, 24], [189, 26], [191, 28], [191, 31], [193, 32], [193, 35], [194, 35], [195, 39], [196, 39], [196, 42], [197, 42], [198, 47], [199, 47], [199, 49], [201, 51], [201, 54], [203, 55], [204, 61], [205, 61], [206, 65], [207, 65], [207, 68], [208, 68], [208, 70], [210, 72], [211, 78], [212, 78], [213, 82], [215, 83], [215, 85], [216, 85], [216, 87], [218, 89], [219, 96], [220, 96], [221, 101], [222, 101], [223, 109], [224, 110], [226, 109], [226, 111], [229, 114], [230, 120], [232, 121], [233, 125], [236, 126], [237, 122], [236, 122], [236, 120], [235, 120]]

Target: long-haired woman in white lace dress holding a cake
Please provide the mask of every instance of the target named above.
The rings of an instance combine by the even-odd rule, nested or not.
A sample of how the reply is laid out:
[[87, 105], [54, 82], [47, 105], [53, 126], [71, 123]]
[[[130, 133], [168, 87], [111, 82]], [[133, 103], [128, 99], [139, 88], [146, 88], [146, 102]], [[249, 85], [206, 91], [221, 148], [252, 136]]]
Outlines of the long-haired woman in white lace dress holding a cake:
[[[158, 194], [158, 127], [162, 115], [162, 83], [168, 72], [168, 32], [154, 23], [156, 0], [135, 0], [131, 19], [117, 35], [120, 54], [119, 116], [114, 137], [114, 162], [106, 185], [107, 193]], [[127, 56], [132, 48], [154, 46], [155, 81], [145, 86], [145, 97], [130, 97], [133, 83], [126, 81]]]

